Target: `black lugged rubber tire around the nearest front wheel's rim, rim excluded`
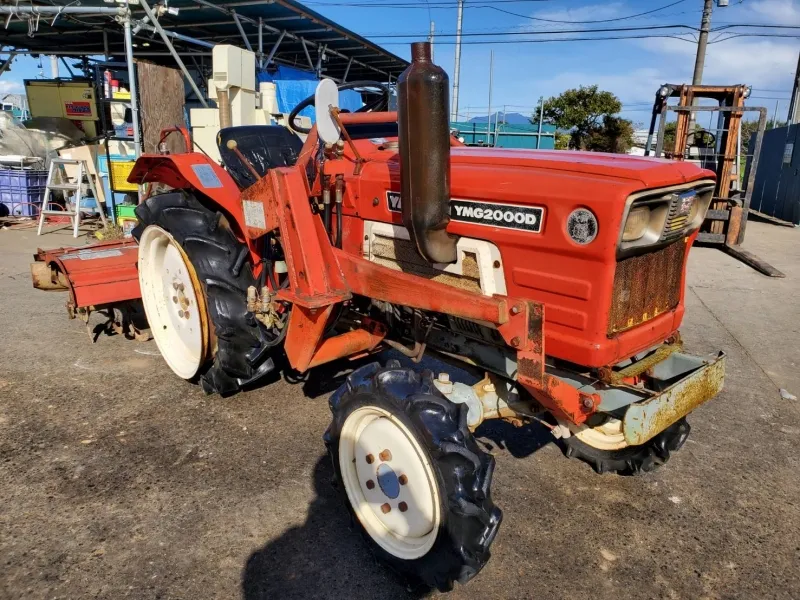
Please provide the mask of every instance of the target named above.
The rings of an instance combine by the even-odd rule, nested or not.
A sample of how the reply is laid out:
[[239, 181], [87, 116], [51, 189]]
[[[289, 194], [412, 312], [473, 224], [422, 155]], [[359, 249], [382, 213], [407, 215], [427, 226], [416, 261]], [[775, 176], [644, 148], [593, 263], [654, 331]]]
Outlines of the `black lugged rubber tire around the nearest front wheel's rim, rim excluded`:
[[[354, 371], [329, 401], [333, 420], [325, 433], [334, 472], [355, 526], [376, 557], [399, 575], [439, 591], [466, 583], [489, 560], [502, 511], [491, 499], [494, 458], [480, 449], [467, 427], [467, 407], [447, 400], [421, 374], [389, 361]], [[414, 560], [398, 558], [375, 543], [347, 500], [339, 466], [339, 439], [347, 417], [362, 406], [377, 406], [401, 419], [427, 452], [438, 479], [442, 506], [440, 528], [431, 550]]]

